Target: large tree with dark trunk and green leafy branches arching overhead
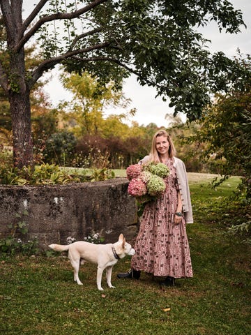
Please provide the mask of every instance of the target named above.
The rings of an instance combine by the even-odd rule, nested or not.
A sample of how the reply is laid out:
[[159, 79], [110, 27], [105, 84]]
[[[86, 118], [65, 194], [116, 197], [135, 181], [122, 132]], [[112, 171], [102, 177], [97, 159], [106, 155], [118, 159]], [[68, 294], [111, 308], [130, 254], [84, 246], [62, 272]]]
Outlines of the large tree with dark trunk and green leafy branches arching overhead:
[[[242, 69], [222, 52], [210, 54], [196, 30], [214, 20], [237, 33], [241, 11], [227, 0], [40, 0], [23, 19], [25, 3], [0, 1], [0, 85], [10, 101], [18, 167], [33, 163], [29, 93], [56, 64], [87, 71], [100, 86], [113, 80], [116, 88], [135, 73], [190, 120], [200, 117], [212, 92], [238, 82]], [[38, 64], [28, 68], [31, 42]]]

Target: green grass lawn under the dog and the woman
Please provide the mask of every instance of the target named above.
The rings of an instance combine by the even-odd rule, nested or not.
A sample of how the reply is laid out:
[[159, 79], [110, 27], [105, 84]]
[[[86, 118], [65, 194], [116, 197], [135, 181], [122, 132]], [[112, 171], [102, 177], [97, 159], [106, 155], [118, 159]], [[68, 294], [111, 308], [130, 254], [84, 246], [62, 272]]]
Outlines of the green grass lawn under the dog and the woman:
[[190, 175], [195, 223], [187, 230], [194, 278], [164, 290], [160, 278], [148, 274], [139, 281], [117, 279], [116, 273], [130, 268], [126, 258], [114, 266], [116, 289], [103, 278], [100, 292], [95, 265], [81, 268], [79, 286], [67, 257], [1, 258], [1, 334], [251, 334], [250, 246], [226, 232], [250, 213], [224, 202], [237, 177], [216, 190], [209, 179]]

